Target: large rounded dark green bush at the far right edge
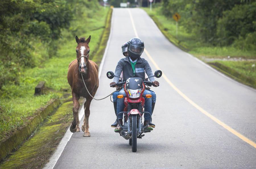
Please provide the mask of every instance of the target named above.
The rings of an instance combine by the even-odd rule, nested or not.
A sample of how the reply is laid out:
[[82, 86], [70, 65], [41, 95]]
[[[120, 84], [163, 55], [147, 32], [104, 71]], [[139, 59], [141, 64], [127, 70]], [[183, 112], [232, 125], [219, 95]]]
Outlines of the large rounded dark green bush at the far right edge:
[[[256, 2], [244, 5], [235, 5], [231, 10], [223, 12], [223, 17], [218, 21], [218, 36], [224, 45], [232, 44], [234, 41], [254, 44], [256, 46]], [[239, 47], [239, 45], [236, 45]], [[241, 48], [252, 49], [242, 46]]]

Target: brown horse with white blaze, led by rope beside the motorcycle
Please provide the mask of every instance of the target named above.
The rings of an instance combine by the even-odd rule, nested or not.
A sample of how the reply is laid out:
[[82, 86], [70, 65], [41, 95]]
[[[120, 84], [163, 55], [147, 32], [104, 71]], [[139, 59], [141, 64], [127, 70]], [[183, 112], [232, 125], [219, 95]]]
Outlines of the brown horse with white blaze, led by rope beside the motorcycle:
[[[87, 92], [86, 87], [90, 94], [94, 97], [98, 87], [99, 87], [99, 78], [98, 78], [98, 65], [89, 60], [89, 52], [90, 48], [88, 46], [91, 40], [91, 36], [89, 36], [86, 40], [85, 38], [78, 38], [76, 36], [77, 42], [77, 59], [73, 60], [69, 64], [67, 80], [72, 89], [72, 97], [73, 97], [73, 117], [74, 120], [71, 123], [69, 129], [72, 133], [80, 132], [79, 128], [79, 98], [84, 97], [86, 101], [84, 103], [84, 123], [82, 125], [82, 131], [84, 131], [84, 137], [90, 137], [89, 132], [89, 116], [90, 116], [90, 104], [92, 101], [92, 97]], [[84, 78], [84, 82], [82, 77]]]

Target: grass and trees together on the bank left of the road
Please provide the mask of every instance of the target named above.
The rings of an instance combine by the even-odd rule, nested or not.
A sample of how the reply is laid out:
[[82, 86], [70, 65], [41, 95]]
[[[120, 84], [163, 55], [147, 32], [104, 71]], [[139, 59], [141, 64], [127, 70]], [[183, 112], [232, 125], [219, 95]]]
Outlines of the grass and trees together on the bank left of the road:
[[[20, 127], [26, 125], [29, 119], [35, 115], [37, 109], [46, 105], [48, 101], [53, 98], [60, 98], [64, 93], [71, 92], [67, 83], [67, 69], [69, 63], [76, 59], [75, 47], [77, 44], [75, 42], [75, 35], [86, 38], [91, 35], [92, 38], [89, 46], [92, 53], [90, 54], [89, 59], [95, 59], [97, 61], [101, 59], [101, 55], [95, 55], [100, 47], [99, 45], [105, 30], [106, 17], [108, 12], [110, 12], [108, 8], [104, 9], [101, 7], [97, 0], [69, 0], [63, 2], [55, 2], [53, 0], [26, 1], [24, 3], [22, 1], [1, 1], [1, 3], [3, 5], [6, 5], [6, 3], [20, 3], [16, 4], [21, 5], [24, 8], [21, 11], [18, 11], [22, 13], [20, 15], [23, 15], [23, 12], [27, 10], [29, 5], [38, 5], [36, 3], [39, 3], [40, 5], [35, 7], [37, 10], [40, 7], [40, 12], [52, 12], [46, 16], [46, 20], [55, 17], [55, 15], [58, 14], [55, 7], [58, 6], [57, 8], [60, 8], [61, 5], [58, 4], [64, 3], [66, 5], [65, 8], [58, 10], [61, 10], [61, 13], [69, 13], [68, 17], [70, 17], [70, 19], [68, 20], [68, 23], [64, 24], [64, 26], [54, 28], [53, 30], [50, 29], [51, 27], [49, 25], [47, 26], [46, 22], [35, 20], [37, 24], [44, 24], [44, 26], [46, 25], [49, 27], [47, 30], [51, 30], [53, 34], [57, 32], [58, 37], [55, 38], [53, 34], [48, 37], [50, 39], [50, 44], [47, 41], [42, 42], [40, 37], [34, 36], [36, 33], [29, 34], [28, 37], [25, 37], [27, 38], [26, 40], [28, 41], [28, 44], [19, 42], [19, 38], [15, 39], [13, 37], [9, 37], [12, 39], [9, 43], [13, 48], [15, 47], [15, 44], [19, 44], [21, 46], [30, 45], [31, 48], [22, 47], [24, 51], [19, 51], [20, 48], [16, 48], [17, 51], [15, 52], [20, 54], [23, 52], [26, 53], [26, 55], [17, 55], [16, 53], [12, 53], [12, 50], [9, 51], [8, 55], [7, 53], [5, 55], [1, 52], [0, 57], [2, 61], [4, 61], [3, 63], [1, 62], [1, 69], [9, 72], [11, 78], [9, 78], [8, 74], [8, 76], [5, 76], [5, 73], [0, 71], [3, 73], [0, 76], [2, 84], [0, 88], [0, 142], [4, 141]], [[27, 3], [29, 3], [28, 6], [26, 6]], [[53, 9], [47, 5], [48, 3], [50, 4], [50, 7], [53, 7]], [[41, 9], [41, 6], [45, 9]], [[3, 9], [1, 8], [1, 10]], [[34, 11], [35, 9], [27, 12], [31, 14]], [[12, 19], [13, 15], [13, 13], [10, 13], [9, 19]], [[66, 15], [61, 15], [53, 25], [56, 26], [58, 25], [58, 22], [65, 22], [65, 18], [67, 19], [68, 17]], [[24, 25], [29, 25], [29, 23], [30, 20], [27, 23], [24, 23]], [[3, 27], [2, 24], [1, 27]], [[36, 30], [37, 29], [39, 28], [37, 27]], [[0, 33], [1, 31], [2, 29], [0, 28]], [[22, 31], [23, 30], [17, 30], [15, 35], [23, 34], [24, 32]], [[1, 34], [1, 36], [4, 35]], [[25, 40], [25, 38], [23, 39]], [[1, 42], [3, 42], [3, 39], [0, 39], [2, 40]], [[31, 41], [31, 39], [34, 40]], [[3, 44], [1, 45], [1, 50], [3, 50]], [[3, 58], [7, 56], [10, 60], [3, 60]], [[20, 60], [17, 61], [12, 57], [20, 57], [22, 62]], [[8, 61], [10, 61], [10, 65], [13, 66], [6, 66], [6, 62]], [[27, 65], [23, 61], [33, 64]], [[45, 95], [34, 96], [34, 88], [40, 81], [46, 81], [46, 87], [48, 89], [47, 93]], [[70, 111], [72, 111], [72, 107], [70, 108]]]

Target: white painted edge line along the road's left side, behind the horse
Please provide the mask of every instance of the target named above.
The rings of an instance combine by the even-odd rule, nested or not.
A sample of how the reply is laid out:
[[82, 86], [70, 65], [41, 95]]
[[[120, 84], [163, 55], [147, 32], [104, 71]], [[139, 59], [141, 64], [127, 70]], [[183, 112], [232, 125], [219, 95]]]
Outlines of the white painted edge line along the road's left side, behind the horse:
[[[108, 50], [108, 46], [109, 46], [109, 43], [110, 43], [110, 39], [111, 39], [111, 36], [112, 36], [113, 12], [114, 12], [114, 10], [112, 11], [110, 34], [109, 34], [109, 37], [108, 37], [108, 42], [107, 42], [107, 45], [106, 45], [106, 48], [105, 48], [102, 60], [100, 62], [99, 78], [100, 78], [100, 75], [102, 73], [102, 68], [103, 68], [104, 61], [105, 61], [105, 58], [106, 58], [106, 55], [107, 55], [107, 50]], [[84, 109], [82, 109], [82, 108], [83, 108], [83, 106], [81, 106], [80, 110], [79, 110], [79, 121], [81, 121], [82, 117], [84, 116]], [[61, 139], [61, 142], [59, 143], [57, 149], [55, 150], [54, 154], [51, 156], [50, 161], [44, 166], [43, 169], [53, 169], [53, 167], [55, 166], [55, 164], [59, 160], [59, 157], [61, 156], [65, 146], [69, 142], [69, 140], [70, 140], [72, 135], [73, 135], [73, 133], [68, 128], [66, 133], [65, 133], [65, 135], [64, 135], [64, 137]]]

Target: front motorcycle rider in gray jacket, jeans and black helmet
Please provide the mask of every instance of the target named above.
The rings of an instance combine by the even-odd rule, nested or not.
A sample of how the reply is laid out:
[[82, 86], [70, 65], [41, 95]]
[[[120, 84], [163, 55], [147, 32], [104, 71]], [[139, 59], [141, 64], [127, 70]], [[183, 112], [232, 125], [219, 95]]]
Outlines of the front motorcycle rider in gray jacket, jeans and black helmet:
[[[132, 38], [128, 42], [128, 56], [126, 58], [122, 58], [119, 60], [116, 69], [115, 69], [115, 75], [120, 77], [121, 72], [123, 71], [123, 78], [124, 80], [127, 80], [130, 77], [140, 77], [145, 81], [145, 72], [146, 74], [150, 77], [149, 80], [153, 83], [154, 86], [158, 86], [159, 82], [154, 80], [152, 70], [148, 64], [148, 62], [144, 59], [141, 58], [141, 54], [143, 53], [144, 50], [144, 42], [139, 39], [139, 38]], [[132, 71], [131, 71], [132, 70]], [[110, 85], [114, 85], [118, 82], [119, 78], [114, 77], [114, 80]], [[113, 87], [114, 87], [113, 86]], [[119, 91], [119, 95], [122, 94], [124, 96], [125, 92], [124, 89], [121, 89]], [[145, 90], [143, 95], [146, 94], [151, 94], [150, 91]], [[124, 108], [124, 103], [123, 103], [124, 98], [119, 98], [117, 99], [117, 113], [123, 111]], [[152, 99], [151, 98], [145, 98], [145, 103], [144, 103], [144, 109], [145, 111], [149, 112], [150, 114], [152, 113]], [[119, 123], [122, 125], [123, 124], [123, 115], [120, 114], [118, 115]], [[144, 114], [144, 126], [148, 125], [150, 122], [150, 116], [148, 114]], [[152, 130], [151, 127], [148, 126], [149, 130]], [[116, 128], [115, 131], [121, 131], [121, 127]]]

